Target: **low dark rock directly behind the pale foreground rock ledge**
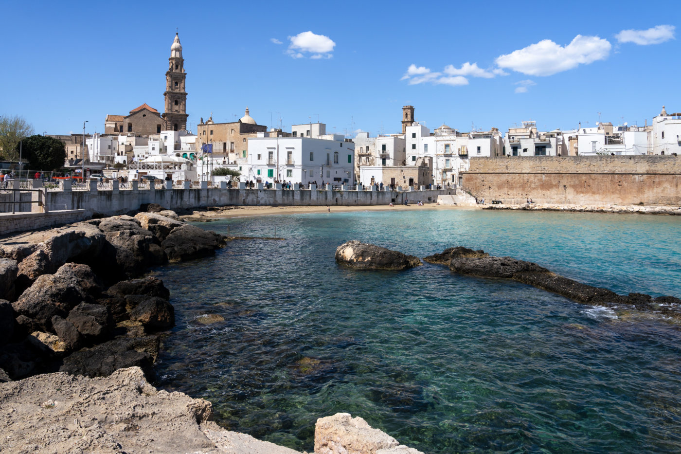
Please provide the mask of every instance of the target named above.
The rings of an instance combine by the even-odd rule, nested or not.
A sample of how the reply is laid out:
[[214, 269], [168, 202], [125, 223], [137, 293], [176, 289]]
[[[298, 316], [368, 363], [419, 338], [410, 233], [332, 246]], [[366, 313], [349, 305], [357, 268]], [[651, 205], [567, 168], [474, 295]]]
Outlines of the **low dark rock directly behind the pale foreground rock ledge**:
[[110, 341], [84, 348], [64, 358], [61, 372], [89, 377], [107, 376], [123, 367], [141, 367], [152, 373], [159, 354], [159, 337], [116, 337]]

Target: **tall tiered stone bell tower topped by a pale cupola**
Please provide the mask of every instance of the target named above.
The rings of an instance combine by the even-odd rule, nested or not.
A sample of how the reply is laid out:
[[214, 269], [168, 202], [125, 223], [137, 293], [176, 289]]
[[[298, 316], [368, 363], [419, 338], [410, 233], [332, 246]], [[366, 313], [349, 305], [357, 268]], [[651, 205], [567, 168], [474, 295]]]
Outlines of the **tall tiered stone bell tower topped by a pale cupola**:
[[163, 119], [168, 130], [187, 129], [187, 92], [185, 91], [185, 59], [182, 58], [180, 37], [175, 33], [175, 40], [170, 46], [170, 65], [165, 72], [165, 112]]

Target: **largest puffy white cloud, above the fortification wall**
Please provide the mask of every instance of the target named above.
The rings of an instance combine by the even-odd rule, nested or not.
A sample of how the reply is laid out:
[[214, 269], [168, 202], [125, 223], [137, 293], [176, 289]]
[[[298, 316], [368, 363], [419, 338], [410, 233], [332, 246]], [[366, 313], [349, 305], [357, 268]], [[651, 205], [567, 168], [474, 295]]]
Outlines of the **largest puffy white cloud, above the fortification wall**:
[[571, 70], [577, 65], [588, 65], [606, 59], [610, 53], [607, 40], [597, 36], [577, 35], [570, 44], [563, 47], [551, 40], [542, 40], [526, 48], [496, 58], [501, 68], [522, 72], [530, 76], [551, 76]]

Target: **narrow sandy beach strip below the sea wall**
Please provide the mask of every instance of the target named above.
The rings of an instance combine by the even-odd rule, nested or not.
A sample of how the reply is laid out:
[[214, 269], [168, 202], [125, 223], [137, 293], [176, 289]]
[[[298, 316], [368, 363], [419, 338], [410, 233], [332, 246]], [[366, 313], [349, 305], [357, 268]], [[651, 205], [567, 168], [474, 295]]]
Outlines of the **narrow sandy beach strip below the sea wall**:
[[[459, 207], [452, 205], [435, 205], [434, 203], [426, 205], [395, 205], [390, 207], [388, 205], [366, 205], [361, 207], [343, 207], [332, 205], [330, 207], [331, 213], [346, 212], [346, 211], [414, 211], [414, 210], [477, 210], [481, 207]], [[187, 213], [181, 216], [184, 220], [210, 220], [221, 217], [247, 217], [247, 216], [267, 216], [267, 215], [281, 215], [281, 214], [300, 214], [300, 213], [328, 213], [327, 207], [216, 207], [215, 209], [195, 210], [193, 213]]]

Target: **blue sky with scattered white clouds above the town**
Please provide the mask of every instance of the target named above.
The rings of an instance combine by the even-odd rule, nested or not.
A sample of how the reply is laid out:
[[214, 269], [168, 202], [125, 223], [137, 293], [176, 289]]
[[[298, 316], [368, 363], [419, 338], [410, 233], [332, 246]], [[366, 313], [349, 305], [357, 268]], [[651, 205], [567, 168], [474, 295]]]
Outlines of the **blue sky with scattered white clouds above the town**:
[[521, 121], [568, 130], [681, 111], [681, 2], [77, 2], [3, 0], [0, 115], [37, 134], [104, 132], [106, 115], [163, 112], [176, 28], [188, 127], [212, 112], [327, 132]]

